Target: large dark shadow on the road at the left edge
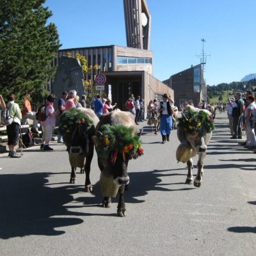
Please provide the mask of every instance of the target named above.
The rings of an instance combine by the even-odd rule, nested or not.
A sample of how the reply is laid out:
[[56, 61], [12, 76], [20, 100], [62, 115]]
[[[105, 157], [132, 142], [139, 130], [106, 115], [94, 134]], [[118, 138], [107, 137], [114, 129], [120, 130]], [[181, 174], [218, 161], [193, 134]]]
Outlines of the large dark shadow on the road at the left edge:
[[47, 177], [54, 173], [30, 173], [27, 175], [1, 175], [0, 238], [29, 235], [57, 236], [65, 233], [54, 228], [77, 225], [80, 218], [58, 218], [79, 216], [63, 206], [73, 200], [76, 186], [49, 188]]

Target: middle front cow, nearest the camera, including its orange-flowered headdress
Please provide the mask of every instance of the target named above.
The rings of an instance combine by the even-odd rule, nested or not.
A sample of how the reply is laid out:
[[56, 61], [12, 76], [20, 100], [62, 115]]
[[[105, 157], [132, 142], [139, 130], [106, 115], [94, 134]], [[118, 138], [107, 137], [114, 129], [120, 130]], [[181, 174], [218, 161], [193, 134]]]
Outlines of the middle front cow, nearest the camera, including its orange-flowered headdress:
[[117, 214], [125, 216], [124, 191], [129, 183], [128, 162], [143, 155], [137, 136], [134, 116], [130, 112], [112, 111], [100, 118], [92, 137], [100, 168], [103, 207], [110, 207], [111, 198], [119, 193]]

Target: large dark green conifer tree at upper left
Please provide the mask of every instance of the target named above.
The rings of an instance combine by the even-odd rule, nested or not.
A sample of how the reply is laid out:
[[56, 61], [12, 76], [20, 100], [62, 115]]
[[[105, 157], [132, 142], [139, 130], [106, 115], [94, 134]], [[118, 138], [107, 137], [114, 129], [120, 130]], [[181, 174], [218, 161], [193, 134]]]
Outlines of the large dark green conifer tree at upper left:
[[40, 102], [54, 75], [51, 61], [60, 47], [56, 26], [46, 24], [52, 13], [45, 0], [0, 0], [1, 93], [28, 90], [32, 102]]

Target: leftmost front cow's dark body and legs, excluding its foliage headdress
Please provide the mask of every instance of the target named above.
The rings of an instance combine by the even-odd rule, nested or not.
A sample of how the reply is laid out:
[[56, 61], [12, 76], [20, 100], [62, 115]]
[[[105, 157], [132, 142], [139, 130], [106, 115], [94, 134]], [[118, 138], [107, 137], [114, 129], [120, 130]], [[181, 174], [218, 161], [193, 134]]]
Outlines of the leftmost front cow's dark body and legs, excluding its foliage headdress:
[[[92, 192], [92, 184], [90, 182], [90, 169], [94, 150], [92, 136], [95, 134], [95, 127], [99, 122], [99, 118], [92, 109], [77, 108], [77, 110], [81, 111], [84, 116], [88, 116], [92, 124], [81, 122], [73, 125], [70, 131], [63, 129], [63, 125], [61, 125], [63, 129], [63, 141], [67, 146], [71, 166], [70, 183], [76, 183], [76, 168], [81, 168], [81, 172], [83, 172], [84, 169], [85, 190]], [[74, 109], [72, 111], [74, 111]]]

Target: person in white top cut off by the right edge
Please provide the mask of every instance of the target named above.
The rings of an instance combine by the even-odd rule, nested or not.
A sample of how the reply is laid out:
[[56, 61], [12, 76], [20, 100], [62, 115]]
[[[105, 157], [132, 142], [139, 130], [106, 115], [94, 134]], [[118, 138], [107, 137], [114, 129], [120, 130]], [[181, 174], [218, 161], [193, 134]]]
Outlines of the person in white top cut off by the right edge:
[[252, 113], [256, 109], [256, 104], [254, 101], [254, 97], [248, 96], [246, 97], [246, 102], [248, 102], [248, 106], [244, 111], [244, 127], [246, 131], [246, 145], [244, 147], [250, 149], [256, 149], [256, 138], [255, 131], [253, 131], [253, 119]]

